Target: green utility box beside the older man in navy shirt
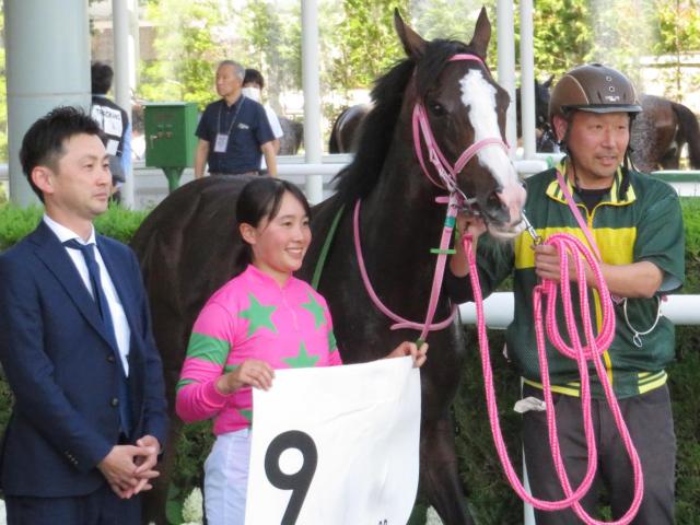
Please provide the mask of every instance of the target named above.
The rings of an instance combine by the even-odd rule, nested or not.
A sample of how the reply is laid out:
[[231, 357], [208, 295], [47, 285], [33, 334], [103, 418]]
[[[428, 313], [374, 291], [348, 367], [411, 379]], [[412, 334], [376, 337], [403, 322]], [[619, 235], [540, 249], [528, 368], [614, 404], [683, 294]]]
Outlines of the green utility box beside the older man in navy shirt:
[[197, 104], [148, 103], [143, 107], [145, 165], [160, 167], [173, 191], [186, 167], [195, 165]]

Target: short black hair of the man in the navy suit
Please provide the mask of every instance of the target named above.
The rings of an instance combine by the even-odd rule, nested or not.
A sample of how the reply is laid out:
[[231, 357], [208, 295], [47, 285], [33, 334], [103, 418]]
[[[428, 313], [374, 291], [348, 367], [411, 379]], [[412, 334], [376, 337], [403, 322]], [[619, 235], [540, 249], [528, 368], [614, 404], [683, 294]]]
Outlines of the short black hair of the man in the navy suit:
[[24, 133], [20, 162], [26, 179], [44, 202], [44, 194], [32, 180], [36, 166], [58, 171], [58, 162], [66, 154], [66, 141], [75, 135], [94, 135], [102, 139], [102, 130], [90, 115], [72, 106], [60, 106], [36, 120]]

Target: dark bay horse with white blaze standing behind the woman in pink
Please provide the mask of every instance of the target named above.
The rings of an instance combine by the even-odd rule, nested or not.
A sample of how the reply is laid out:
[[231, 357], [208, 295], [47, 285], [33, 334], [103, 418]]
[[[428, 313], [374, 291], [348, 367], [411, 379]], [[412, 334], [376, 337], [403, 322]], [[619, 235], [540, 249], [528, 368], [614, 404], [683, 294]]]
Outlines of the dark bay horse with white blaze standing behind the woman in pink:
[[[376, 296], [386, 308], [418, 325], [427, 322], [431, 298], [430, 276], [436, 259], [431, 248], [440, 244], [441, 234], [451, 236], [450, 229], [443, 231], [444, 198], [464, 199], [459, 208], [470, 206], [480, 213], [493, 235], [511, 238], [523, 228], [524, 189], [503, 142], [509, 97], [483, 63], [491, 34], [486, 11], [468, 46], [454, 40], [425, 42], [398, 13], [395, 25], [407, 58], [376, 82], [374, 107], [358, 153], [339, 175], [337, 192], [313, 210], [314, 241], [301, 271], [302, 278], [311, 277], [330, 224], [345, 208], [319, 291], [330, 306], [347, 363], [383, 357], [387, 349], [415, 340], [419, 334], [410, 328], [392, 329], [393, 320], [365, 290], [353, 240], [353, 207], [360, 201], [357, 235]], [[415, 135], [415, 121], [422, 135]], [[183, 186], [151, 212], [132, 241], [147, 280], [171, 401], [194, 320], [235, 267], [241, 249], [235, 202], [246, 182], [207, 177]], [[456, 213], [457, 207], [451, 210]], [[435, 292], [435, 323], [446, 320], [442, 329], [431, 325], [430, 355], [421, 369], [421, 490], [444, 523], [472, 524], [457, 471], [450, 417], [465, 342], [458, 324], [450, 320], [448, 298], [439, 288]], [[173, 423], [174, 441], [182, 423], [175, 417]], [[170, 450], [173, 447], [171, 443]], [[166, 455], [165, 479], [156, 487], [167, 486], [172, 459], [172, 453]], [[162, 513], [162, 498], [164, 494], [147, 511], [147, 520], [164, 523], [158, 514]]]

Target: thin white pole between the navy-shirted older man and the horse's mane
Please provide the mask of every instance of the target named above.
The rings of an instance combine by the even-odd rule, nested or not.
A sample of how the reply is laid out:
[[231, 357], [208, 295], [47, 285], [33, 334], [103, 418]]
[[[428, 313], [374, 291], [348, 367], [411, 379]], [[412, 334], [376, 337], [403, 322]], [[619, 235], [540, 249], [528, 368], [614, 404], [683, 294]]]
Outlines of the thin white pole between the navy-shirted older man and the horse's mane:
[[[307, 164], [319, 164], [322, 154], [318, 71], [318, 4], [316, 0], [302, 0], [302, 88]], [[322, 175], [306, 175], [306, 197], [312, 205], [323, 200], [323, 188]]]

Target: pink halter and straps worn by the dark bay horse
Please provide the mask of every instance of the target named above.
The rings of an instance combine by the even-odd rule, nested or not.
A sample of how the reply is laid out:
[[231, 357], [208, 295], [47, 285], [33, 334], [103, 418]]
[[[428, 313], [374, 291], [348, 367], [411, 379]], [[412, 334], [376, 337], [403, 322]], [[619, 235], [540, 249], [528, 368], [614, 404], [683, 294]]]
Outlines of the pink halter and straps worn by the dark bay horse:
[[[458, 54], [454, 55], [450, 61], [459, 61], [459, 60], [474, 60], [483, 66], [485, 69], [488, 70], [483, 60], [476, 55], [471, 54]], [[456, 314], [456, 306], [453, 305], [452, 313], [450, 316], [440, 322], [433, 324], [433, 317], [435, 316], [435, 310], [438, 308], [438, 300], [440, 298], [440, 289], [442, 288], [443, 276], [445, 271], [445, 262], [447, 260], [447, 255], [451, 253], [450, 240], [452, 238], [452, 231], [455, 225], [455, 218], [457, 217], [457, 212], [459, 208], [465, 206], [472, 205], [476, 199], [469, 199], [464, 192], [459, 189], [457, 185], [457, 174], [464, 168], [464, 166], [471, 160], [474, 155], [476, 155], [481, 149], [498, 145], [503, 148], [508, 152], [508, 144], [501, 140], [500, 137], [492, 137], [479, 140], [475, 142], [469, 148], [467, 148], [455, 165], [451, 165], [450, 162], [445, 159], [445, 155], [440, 150], [438, 142], [435, 141], [435, 137], [433, 136], [432, 129], [430, 127], [430, 121], [428, 120], [428, 115], [425, 113], [425, 107], [421, 101], [417, 101], [413, 106], [413, 115], [412, 115], [412, 128], [413, 128], [413, 148], [416, 151], [416, 156], [418, 158], [418, 162], [423, 171], [423, 174], [428, 177], [428, 179], [434, 184], [435, 186], [446, 189], [450, 191], [448, 197], [438, 197], [435, 199], [439, 203], [447, 205], [447, 214], [445, 217], [445, 223], [442, 231], [442, 237], [440, 241], [440, 248], [433, 249], [431, 252], [438, 254], [438, 260], [435, 261], [435, 271], [433, 273], [433, 284], [432, 291], [430, 293], [430, 301], [428, 304], [428, 312], [425, 314], [425, 320], [423, 323], [411, 322], [402, 318], [401, 316], [392, 312], [388, 307], [386, 307], [380, 298], [374, 292], [372, 283], [370, 282], [370, 277], [368, 275], [366, 268], [364, 266], [364, 258], [362, 256], [362, 243], [360, 242], [360, 199], [355, 203], [354, 215], [353, 215], [353, 226], [354, 226], [354, 245], [355, 253], [358, 256], [358, 264], [360, 266], [360, 273], [362, 275], [362, 281], [364, 282], [364, 288], [368, 291], [368, 294], [372, 299], [374, 306], [382, 312], [384, 315], [389, 317], [395, 322], [392, 326], [392, 329], [399, 328], [412, 328], [417, 330], [421, 330], [420, 340], [425, 340], [428, 334], [433, 330], [442, 330], [443, 328], [450, 326]], [[435, 167], [438, 175], [440, 176], [440, 182], [436, 182], [433, 176], [430, 174], [428, 168], [425, 167], [425, 162], [423, 160], [423, 151], [421, 148], [421, 133], [422, 138], [425, 141], [425, 147], [428, 148], [428, 155], [430, 162]]]

